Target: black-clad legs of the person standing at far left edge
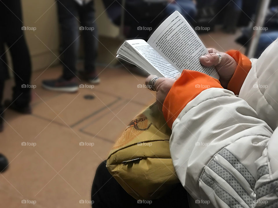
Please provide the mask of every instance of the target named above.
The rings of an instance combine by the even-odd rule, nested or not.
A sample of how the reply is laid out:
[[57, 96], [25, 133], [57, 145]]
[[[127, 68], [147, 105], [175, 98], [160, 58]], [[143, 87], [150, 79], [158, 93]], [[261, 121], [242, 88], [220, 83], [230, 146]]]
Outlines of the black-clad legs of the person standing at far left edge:
[[21, 1], [0, 1], [0, 108], [4, 82], [8, 75], [4, 44], [7, 45], [12, 57], [12, 70], [15, 80], [12, 95], [15, 100], [14, 103], [22, 107], [30, 103], [30, 88], [22, 87], [22, 85], [30, 85], [31, 77], [30, 54], [22, 27]]

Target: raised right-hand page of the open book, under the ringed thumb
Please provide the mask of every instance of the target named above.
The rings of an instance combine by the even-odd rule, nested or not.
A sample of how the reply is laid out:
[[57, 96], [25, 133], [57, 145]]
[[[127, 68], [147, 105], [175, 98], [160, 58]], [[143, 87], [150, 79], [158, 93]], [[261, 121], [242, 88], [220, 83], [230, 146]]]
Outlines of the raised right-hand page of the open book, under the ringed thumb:
[[153, 32], [148, 43], [180, 72], [184, 69], [195, 70], [219, 79], [215, 67], [200, 64], [199, 58], [209, 52], [178, 11], [173, 12]]

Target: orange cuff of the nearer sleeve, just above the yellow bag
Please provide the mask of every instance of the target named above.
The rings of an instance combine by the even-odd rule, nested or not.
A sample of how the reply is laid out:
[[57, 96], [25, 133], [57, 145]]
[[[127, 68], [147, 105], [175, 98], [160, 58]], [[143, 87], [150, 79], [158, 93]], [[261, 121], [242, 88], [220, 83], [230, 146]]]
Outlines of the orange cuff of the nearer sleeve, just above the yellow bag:
[[192, 70], [183, 70], [166, 96], [162, 112], [170, 128], [182, 109], [203, 90], [222, 88], [218, 79]]

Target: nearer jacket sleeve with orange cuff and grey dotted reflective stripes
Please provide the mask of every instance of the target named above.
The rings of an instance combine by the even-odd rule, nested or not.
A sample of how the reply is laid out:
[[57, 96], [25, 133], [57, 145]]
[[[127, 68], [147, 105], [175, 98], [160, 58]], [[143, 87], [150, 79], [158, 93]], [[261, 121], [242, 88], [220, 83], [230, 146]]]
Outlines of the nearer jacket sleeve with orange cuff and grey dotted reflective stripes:
[[186, 70], [169, 91], [163, 113], [172, 128], [175, 171], [195, 203], [257, 206], [254, 164], [272, 130], [246, 101], [208, 75]]

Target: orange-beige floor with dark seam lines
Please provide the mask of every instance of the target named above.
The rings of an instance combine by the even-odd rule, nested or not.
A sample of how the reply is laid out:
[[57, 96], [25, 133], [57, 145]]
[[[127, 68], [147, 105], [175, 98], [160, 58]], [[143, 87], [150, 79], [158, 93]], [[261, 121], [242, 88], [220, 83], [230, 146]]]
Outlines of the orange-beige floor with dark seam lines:
[[[231, 41], [235, 35], [214, 32], [200, 37], [220, 51], [241, 48]], [[97, 71], [100, 85], [69, 94], [41, 88], [42, 79], [61, 74], [61, 66], [36, 71], [32, 115], [5, 111], [0, 152], [10, 165], [0, 176], [0, 207], [90, 207], [79, 200], [90, 200], [96, 167], [133, 116], [155, 101], [153, 92], [137, 86], [145, 82], [144, 77], [124, 67], [98, 67]], [[5, 98], [11, 97], [12, 85], [12, 80], [7, 81]], [[22, 142], [36, 146], [22, 146]], [[36, 203], [22, 204], [22, 200]]]

